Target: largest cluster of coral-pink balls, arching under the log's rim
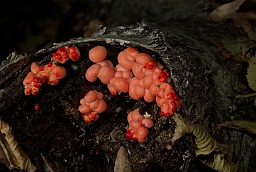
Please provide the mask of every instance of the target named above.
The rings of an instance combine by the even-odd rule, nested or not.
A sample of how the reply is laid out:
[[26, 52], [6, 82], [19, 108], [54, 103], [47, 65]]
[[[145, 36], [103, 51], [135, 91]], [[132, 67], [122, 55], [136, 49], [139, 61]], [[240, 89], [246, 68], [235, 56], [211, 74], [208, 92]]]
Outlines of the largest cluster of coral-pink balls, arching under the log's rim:
[[112, 95], [128, 92], [135, 100], [156, 101], [161, 108], [161, 116], [169, 117], [181, 108], [181, 100], [168, 83], [169, 74], [149, 54], [127, 47], [118, 54], [116, 66], [110, 60], [105, 60], [106, 57], [107, 50], [103, 46], [89, 51], [89, 59], [95, 64], [85, 73], [88, 81], [94, 82], [98, 78], [107, 84]]

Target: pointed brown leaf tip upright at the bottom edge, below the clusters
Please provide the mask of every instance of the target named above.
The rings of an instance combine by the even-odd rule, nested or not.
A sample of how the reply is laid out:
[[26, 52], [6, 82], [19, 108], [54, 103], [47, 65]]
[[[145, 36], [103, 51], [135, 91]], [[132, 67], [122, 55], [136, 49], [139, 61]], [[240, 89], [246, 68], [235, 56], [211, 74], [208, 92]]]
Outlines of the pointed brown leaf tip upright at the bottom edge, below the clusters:
[[128, 159], [127, 151], [123, 146], [121, 146], [118, 150], [115, 160], [114, 172], [132, 172], [132, 167]]

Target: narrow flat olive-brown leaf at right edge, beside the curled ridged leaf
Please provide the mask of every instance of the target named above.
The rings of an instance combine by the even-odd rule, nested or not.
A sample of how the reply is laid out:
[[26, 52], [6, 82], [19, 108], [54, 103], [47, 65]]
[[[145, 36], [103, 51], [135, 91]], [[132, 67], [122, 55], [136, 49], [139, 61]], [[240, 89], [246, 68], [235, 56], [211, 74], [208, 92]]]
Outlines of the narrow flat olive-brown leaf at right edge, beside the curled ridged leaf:
[[250, 134], [256, 134], [256, 122], [245, 120], [234, 120], [218, 124], [219, 128], [226, 127], [235, 130], [246, 131]]

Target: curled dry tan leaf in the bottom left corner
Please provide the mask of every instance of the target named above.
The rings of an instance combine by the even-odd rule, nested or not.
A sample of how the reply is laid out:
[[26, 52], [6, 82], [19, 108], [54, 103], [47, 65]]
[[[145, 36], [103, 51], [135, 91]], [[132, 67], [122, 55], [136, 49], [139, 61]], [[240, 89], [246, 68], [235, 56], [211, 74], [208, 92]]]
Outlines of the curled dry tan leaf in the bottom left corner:
[[27, 172], [34, 172], [36, 167], [31, 163], [28, 156], [21, 150], [14, 136], [11, 127], [0, 120], [0, 146], [2, 149], [2, 157], [9, 169], [17, 168]]

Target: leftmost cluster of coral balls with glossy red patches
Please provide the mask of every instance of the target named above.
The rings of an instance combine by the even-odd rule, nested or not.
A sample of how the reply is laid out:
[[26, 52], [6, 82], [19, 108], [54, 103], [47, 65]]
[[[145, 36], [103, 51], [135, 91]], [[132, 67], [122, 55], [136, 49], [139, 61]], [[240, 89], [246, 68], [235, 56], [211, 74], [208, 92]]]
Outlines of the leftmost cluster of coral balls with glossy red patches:
[[79, 57], [80, 52], [76, 46], [65, 46], [58, 48], [57, 52], [53, 53], [51, 62], [48, 64], [39, 66], [33, 62], [31, 72], [23, 80], [25, 95], [38, 94], [43, 83], [57, 85], [59, 80], [66, 76], [66, 69], [56, 63], [65, 63], [68, 59], [77, 61]]

